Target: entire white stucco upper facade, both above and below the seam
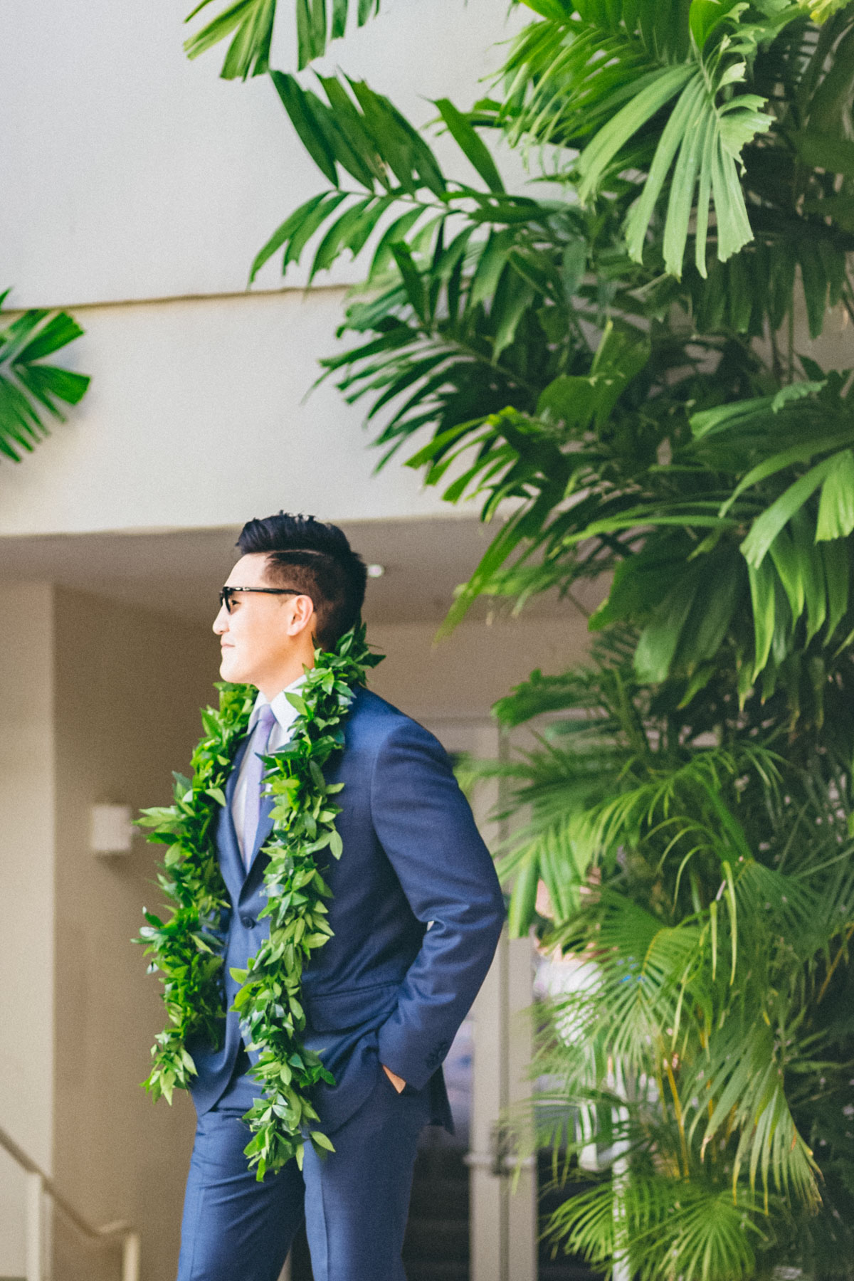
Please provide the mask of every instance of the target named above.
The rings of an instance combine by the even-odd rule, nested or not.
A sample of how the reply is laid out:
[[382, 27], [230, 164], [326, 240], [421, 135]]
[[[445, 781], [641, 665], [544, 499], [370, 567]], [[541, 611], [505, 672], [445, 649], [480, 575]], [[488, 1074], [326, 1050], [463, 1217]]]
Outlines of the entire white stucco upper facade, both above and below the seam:
[[[342, 288], [306, 300], [296, 273], [283, 292], [270, 263], [245, 292], [259, 247], [326, 179], [269, 77], [220, 79], [225, 46], [187, 60], [189, 8], [3, 5], [0, 287], [15, 306], [73, 310], [86, 336], [61, 360], [92, 386], [33, 457], [0, 460], [0, 538], [213, 526], [280, 506], [447, 514], [397, 462], [371, 479], [362, 406], [332, 386], [302, 404], [335, 347]], [[294, 5], [279, 9], [273, 64], [293, 69]], [[508, 31], [504, 0], [383, 0], [321, 67], [365, 77], [423, 123], [430, 99], [485, 92]], [[438, 147], [449, 173], [472, 177], [448, 138]], [[334, 279], [362, 273], [347, 264]]]

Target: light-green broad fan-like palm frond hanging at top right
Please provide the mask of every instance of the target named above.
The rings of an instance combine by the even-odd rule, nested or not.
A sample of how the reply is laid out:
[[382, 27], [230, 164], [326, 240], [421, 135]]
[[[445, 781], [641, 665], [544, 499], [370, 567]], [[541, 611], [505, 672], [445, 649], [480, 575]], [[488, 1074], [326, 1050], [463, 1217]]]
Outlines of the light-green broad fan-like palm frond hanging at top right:
[[753, 240], [737, 167], [773, 123], [764, 99], [745, 91], [762, 35], [737, 6], [580, 4], [519, 37], [499, 119], [516, 141], [579, 150], [566, 177], [583, 201], [625, 187], [618, 174], [645, 170], [626, 219], [631, 257], [643, 259], [666, 193], [665, 269], [681, 275], [694, 213], [694, 259], [705, 277], [712, 204], [718, 260]]

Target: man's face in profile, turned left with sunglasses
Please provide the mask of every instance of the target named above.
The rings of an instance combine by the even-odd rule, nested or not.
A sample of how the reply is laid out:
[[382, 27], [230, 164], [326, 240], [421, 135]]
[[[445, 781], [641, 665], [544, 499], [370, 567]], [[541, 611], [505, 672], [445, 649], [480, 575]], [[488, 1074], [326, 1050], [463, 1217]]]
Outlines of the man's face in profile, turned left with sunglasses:
[[[266, 574], [266, 556], [254, 553], [238, 560], [225, 585], [284, 584], [271, 583]], [[268, 688], [277, 688], [280, 674], [293, 665], [297, 649], [303, 647], [306, 611], [309, 615], [312, 612], [311, 601], [306, 596], [237, 592], [232, 597], [230, 612], [223, 605], [214, 621], [223, 653], [219, 667], [223, 680], [257, 685], [265, 693]]]

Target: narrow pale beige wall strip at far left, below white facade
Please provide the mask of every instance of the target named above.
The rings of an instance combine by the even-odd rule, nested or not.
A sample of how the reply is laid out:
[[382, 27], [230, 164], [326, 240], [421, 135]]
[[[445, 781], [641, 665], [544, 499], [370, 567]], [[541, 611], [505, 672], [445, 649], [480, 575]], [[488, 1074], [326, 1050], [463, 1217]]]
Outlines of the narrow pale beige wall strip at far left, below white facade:
[[[45, 584], [3, 596], [0, 1125], [50, 1170], [54, 1113], [54, 633]], [[23, 1179], [0, 1154], [0, 1276], [23, 1273]]]

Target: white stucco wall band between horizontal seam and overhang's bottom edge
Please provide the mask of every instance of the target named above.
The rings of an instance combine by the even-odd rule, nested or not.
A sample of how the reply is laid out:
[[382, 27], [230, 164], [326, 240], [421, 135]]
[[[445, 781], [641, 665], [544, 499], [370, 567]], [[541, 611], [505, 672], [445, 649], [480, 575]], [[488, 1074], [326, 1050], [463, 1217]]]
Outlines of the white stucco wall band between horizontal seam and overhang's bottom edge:
[[[0, 537], [207, 528], [280, 507], [452, 514], [397, 460], [373, 475], [362, 406], [332, 384], [303, 402], [341, 305], [323, 290], [83, 309], [74, 359], [91, 389], [32, 457], [0, 462]], [[0, 573], [1, 559], [0, 544]]]

